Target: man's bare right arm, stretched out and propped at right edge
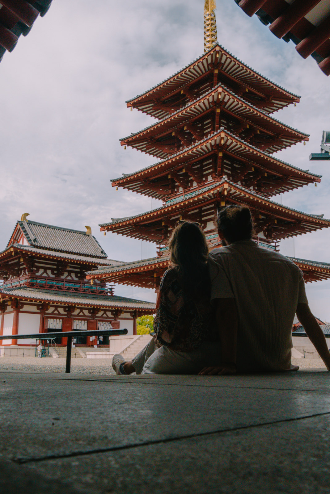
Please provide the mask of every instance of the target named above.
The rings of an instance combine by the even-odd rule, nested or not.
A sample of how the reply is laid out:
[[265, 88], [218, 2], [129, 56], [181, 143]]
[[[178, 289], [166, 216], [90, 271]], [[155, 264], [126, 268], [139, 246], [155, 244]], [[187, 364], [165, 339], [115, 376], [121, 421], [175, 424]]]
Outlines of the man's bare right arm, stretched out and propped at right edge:
[[309, 305], [306, 303], [299, 303], [297, 305], [296, 314], [300, 323], [304, 327], [307, 336], [315, 346], [323, 362], [326, 364], [328, 371], [330, 371], [330, 353], [328, 350], [327, 341], [317, 320], [311, 313]]

